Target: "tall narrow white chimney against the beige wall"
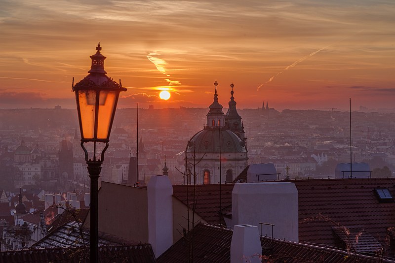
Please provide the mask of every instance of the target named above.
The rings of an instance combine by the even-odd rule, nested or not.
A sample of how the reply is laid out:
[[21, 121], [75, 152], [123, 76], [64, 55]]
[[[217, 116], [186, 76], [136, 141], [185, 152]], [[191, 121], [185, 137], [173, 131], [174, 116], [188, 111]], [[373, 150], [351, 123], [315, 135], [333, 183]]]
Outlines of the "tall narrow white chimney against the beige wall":
[[152, 176], [147, 192], [148, 242], [158, 258], [173, 244], [173, 187], [167, 176]]

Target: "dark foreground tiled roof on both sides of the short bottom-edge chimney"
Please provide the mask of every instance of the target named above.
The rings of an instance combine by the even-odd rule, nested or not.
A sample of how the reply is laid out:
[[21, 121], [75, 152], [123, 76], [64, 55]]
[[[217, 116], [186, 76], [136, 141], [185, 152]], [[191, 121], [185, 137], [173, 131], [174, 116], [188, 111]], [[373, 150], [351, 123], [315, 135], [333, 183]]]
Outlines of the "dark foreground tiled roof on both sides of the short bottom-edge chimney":
[[[193, 230], [195, 263], [229, 263], [232, 230], [198, 224]], [[261, 237], [262, 255], [271, 263], [376, 263], [379, 258], [347, 251]], [[357, 257], [357, 259], [356, 259]], [[157, 263], [187, 263], [188, 242], [181, 238], [158, 257]], [[247, 262], [247, 261], [246, 261]], [[381, 262], [394, 262], [383, 259]]]

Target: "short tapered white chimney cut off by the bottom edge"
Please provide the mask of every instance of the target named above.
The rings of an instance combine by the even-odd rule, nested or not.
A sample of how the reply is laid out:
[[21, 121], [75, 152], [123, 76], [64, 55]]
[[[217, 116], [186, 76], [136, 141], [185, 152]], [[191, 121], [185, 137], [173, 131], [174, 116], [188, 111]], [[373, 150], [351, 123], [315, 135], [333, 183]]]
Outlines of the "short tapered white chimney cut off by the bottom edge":
[[236, 225], [231, 242], [231, 263], [260, 263], [262, 255], [258, 227]]

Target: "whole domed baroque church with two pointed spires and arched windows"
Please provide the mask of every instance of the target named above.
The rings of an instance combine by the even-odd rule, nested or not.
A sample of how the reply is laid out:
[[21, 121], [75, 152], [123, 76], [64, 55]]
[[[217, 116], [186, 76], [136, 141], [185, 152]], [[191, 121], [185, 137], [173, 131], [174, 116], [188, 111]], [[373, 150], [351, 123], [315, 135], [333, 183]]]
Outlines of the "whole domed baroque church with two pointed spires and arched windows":
[[217, 81], [214, 83], [214, 101], [209, 106], [207, 123], [188, 141], [184, 161], [184, 183], [217, 184], [232, 182], [247, 166], [247, 148], [244, 126], [237, 113], [234, 85], [231, 100], [224, 114], [218, 102]]

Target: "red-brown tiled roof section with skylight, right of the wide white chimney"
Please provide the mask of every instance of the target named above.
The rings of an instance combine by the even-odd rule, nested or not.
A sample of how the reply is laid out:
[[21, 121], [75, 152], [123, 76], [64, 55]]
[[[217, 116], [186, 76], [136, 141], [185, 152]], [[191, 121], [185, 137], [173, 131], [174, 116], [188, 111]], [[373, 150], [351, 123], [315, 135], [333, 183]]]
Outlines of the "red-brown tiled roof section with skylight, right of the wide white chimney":
[[395, 203], [379, 203], [375, 188], [388, 188], [393, 179], [321, 179], [293, 181], [299, 192], [299, 240], [339, 246], [332, 226], [358, 227], [383, 242], [395, 227]]

